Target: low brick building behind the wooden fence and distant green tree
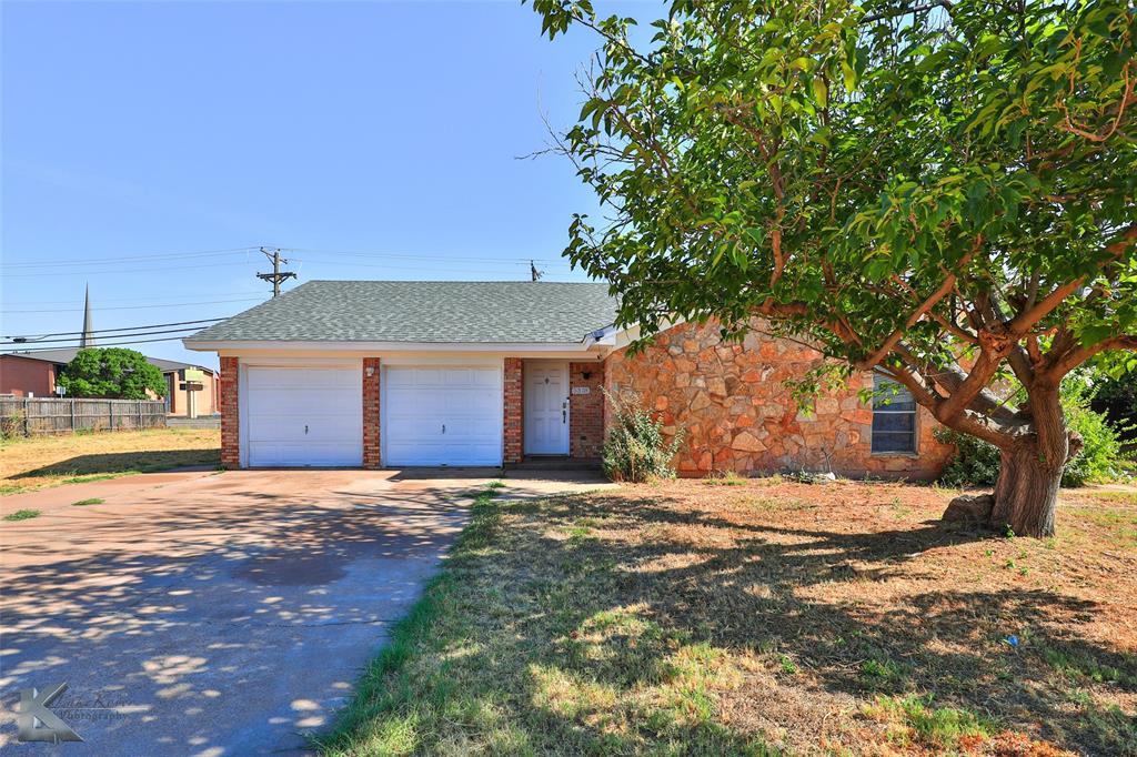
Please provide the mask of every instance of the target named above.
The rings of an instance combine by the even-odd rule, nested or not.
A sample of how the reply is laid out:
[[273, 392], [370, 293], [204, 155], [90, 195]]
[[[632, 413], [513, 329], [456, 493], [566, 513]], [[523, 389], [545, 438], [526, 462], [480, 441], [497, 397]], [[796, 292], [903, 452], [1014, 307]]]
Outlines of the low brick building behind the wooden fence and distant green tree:
[[[35, 350], [27, 352], [6, 352], [0, 355], [0, 394], [15, 397], [55, 397], [56, 378], [63, 368], [70, 363], [80, 348], [68, 347], [57, 350]], [[217, 372], [188, 363], [147, 358], [147, 363], [161, 371], [166, 380], [166, 407], [171, 415], [189, 415], [189, 392], [185, 384], [185, 371], [197, 369], [202, 373], [201, 391], [193, 392], [196, 415], [215, 415], [217, 406]]]

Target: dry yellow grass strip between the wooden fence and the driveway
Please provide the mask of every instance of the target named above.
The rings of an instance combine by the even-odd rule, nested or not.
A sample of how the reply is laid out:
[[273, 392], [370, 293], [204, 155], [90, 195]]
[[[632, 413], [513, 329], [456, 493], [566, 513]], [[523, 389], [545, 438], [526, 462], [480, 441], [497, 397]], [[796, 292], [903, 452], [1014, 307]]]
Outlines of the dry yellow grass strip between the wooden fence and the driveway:
[[0, 442], [0, 493], [82, 483], [185, 465], [217, 465], [221, 432], [153, 429]]

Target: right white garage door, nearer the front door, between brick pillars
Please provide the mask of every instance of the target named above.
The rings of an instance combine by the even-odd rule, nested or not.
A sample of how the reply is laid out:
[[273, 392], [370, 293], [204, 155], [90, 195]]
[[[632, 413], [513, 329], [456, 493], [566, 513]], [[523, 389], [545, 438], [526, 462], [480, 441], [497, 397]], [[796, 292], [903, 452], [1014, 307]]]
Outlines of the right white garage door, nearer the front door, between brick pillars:
[[385, 465], [500, 465], [501, 369], [390, 366]]

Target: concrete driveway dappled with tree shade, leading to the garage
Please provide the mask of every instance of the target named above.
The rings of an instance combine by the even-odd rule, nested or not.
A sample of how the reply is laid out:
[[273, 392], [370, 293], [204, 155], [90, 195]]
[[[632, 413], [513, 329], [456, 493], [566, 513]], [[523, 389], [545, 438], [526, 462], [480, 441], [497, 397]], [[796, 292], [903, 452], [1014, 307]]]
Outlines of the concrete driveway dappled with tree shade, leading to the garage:
[[[304, 751], [467, 521], [491, 471], [158, 473], [8, 497], [0, 523], [0, 748]], [[513, 496], [594, 480], [507, 480]], [[72, 502], [100, 497], [85, 507]], [[83, 743], [17, 743], [18, 691]]]

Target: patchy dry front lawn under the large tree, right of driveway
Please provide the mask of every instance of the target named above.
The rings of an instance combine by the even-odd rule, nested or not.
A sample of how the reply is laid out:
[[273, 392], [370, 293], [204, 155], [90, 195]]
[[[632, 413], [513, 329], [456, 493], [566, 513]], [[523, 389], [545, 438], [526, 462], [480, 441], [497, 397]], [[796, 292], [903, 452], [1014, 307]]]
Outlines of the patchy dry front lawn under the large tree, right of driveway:
[[327, 751], [1137, 755], [1137, 494], [1031, 540], [954, 493], [482, 501]]

